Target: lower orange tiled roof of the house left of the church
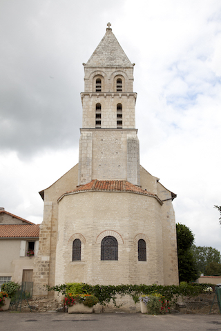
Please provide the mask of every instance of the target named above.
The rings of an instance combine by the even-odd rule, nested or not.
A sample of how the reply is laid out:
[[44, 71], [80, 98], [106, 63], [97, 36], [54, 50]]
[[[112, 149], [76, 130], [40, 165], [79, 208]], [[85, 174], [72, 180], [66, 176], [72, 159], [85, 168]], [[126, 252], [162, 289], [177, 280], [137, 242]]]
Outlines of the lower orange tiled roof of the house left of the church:
[[38, 238], [39, 224], [0, 224], [0, 238]]

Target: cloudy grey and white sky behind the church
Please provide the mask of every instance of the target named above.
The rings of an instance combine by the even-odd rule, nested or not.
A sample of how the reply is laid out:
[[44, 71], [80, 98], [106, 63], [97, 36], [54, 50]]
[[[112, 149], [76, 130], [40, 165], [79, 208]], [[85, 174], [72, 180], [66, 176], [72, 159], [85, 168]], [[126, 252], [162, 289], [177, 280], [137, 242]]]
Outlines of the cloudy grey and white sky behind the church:
[[221, 252], [221, 1], [0, 0], [0, 207], [34, 223], [78, 162], [84, 67], [111, 22], [134, 67], [140, 163]]

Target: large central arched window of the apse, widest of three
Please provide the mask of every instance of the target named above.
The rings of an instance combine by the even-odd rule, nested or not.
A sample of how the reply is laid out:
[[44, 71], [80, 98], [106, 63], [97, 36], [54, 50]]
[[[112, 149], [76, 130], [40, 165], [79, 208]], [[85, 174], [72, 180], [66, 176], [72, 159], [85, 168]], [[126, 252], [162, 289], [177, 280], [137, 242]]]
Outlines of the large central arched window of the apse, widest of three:
[[102, 239], [101, 260], [118, 260], [117, 239], [107, 236]]

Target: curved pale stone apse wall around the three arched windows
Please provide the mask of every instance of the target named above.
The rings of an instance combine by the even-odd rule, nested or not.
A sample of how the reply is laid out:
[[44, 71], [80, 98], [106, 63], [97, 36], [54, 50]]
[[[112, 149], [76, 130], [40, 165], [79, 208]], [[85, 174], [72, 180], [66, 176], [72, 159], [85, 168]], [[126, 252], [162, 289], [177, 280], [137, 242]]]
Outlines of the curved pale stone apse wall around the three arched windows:
[[[155, 198], [126, 192], [81, 192], [61, 199], [55, 283], [164, 284], [160, 210]], [[100, 259], [106, 235], [117, 237], [118, 261]], [[77, 238], [81, 261], [72, 261]], [[139, 239], [146, 241], [147, 261], [137, 261]]]

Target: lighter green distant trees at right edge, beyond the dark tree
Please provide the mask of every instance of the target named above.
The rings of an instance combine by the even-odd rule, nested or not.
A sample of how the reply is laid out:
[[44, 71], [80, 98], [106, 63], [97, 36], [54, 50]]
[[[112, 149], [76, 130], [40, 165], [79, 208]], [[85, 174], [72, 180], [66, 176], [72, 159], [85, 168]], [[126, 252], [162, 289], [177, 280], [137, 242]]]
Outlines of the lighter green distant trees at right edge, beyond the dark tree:
[[191, 252], [193, 253], [196, 269], [200, 274], [206, 274], [206, 266], [209, 263], [221, 263], [220, 252], [215, 248], [192, 245]]

